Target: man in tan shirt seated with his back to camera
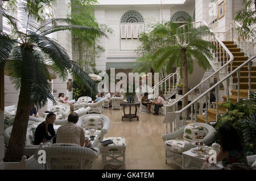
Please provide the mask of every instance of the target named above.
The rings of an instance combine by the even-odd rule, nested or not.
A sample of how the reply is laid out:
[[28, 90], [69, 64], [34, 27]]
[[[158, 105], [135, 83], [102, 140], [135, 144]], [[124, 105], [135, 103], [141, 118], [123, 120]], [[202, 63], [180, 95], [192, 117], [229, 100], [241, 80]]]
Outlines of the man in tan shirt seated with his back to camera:
[[[86, 148], [93, 148], [89, 139], [85, 139], [84, 129], [76, 125], [79, 115], [72, 112], [68, 115], [68, 123], [61, 125], [57, 130], [56, 143], [77, 144]], [[98, 151], [97, 148], [93, 149]]]

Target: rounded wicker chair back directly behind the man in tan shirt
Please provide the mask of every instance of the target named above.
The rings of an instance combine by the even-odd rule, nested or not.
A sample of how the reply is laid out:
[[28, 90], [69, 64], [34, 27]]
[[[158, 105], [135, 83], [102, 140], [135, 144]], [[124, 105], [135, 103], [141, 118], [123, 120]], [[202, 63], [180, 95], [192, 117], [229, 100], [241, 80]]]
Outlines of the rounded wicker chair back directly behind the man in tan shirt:
[[98, 157], [96, 151], [76, 144], [53, 144], [40, 147], [34, 154], [38, 159], [39, 150], [46, 151], [46, 169], [85, 170], [93, 169], [93, 161]]

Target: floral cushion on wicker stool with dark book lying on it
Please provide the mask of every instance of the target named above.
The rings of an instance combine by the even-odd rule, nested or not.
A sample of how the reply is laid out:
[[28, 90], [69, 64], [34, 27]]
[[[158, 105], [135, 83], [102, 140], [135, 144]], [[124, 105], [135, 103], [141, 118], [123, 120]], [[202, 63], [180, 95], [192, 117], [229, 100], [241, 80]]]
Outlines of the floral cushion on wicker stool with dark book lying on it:
[[126, 142], [125, 142], [124, 137], [108, 137], [108, 138], [103, 139], [103, 141], [105, 141], [105, 140], [112, 140], [113, 144], [109, 144], [106, 146], [100, 145], [101, 152], [125, 151], [125, 149], [126, 149]]

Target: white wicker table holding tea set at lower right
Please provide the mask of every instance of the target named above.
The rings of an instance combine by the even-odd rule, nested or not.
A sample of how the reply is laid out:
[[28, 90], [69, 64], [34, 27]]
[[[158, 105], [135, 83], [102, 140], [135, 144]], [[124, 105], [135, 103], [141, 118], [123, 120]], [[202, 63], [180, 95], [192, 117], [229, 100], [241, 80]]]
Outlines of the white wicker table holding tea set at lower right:
[[197, 157], [191, 150], [184, 151], [182, 153], [182, 169], [201, 169], [206, 157]]

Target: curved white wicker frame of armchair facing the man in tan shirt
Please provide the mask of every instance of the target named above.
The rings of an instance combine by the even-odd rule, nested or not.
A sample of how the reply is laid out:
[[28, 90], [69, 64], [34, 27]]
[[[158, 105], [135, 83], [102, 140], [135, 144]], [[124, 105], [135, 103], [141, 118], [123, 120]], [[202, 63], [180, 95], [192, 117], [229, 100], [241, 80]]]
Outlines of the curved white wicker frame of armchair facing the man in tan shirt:
[[[109, 118], [104, 115], [91, 113], [89, 115], [84, 115], [84, 116], [79, 117], [79, 121], [76, 124], [79, 125], [80, 127], [82, 127], [82, 122], [83, 122], [84, 118], [89, 117], [89, 116], [99, 116], [103, 120], [103, 125], [102, 125], [101, 131], [99, 134], [99, 138], [98, 138], [99, 141], [102, 141], [104, 138], [104, 135], [108, 132], [108, 129], [109, 129]], [[91, 127], [89, 127], [89, 128], [91, 128]], [[86, 127], [85, 127], [85, 129], [86, 129]]]

